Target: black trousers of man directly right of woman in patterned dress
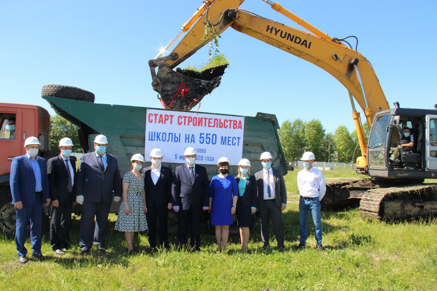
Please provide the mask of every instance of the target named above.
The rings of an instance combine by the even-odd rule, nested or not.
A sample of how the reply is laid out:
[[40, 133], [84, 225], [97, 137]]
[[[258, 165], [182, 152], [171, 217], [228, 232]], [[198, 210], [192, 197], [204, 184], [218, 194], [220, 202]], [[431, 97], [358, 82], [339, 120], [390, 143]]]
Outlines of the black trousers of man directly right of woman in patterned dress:
[[[168, 204], [167, 204], [168, 205]], [[152, 206], [147, 206], [147, 238], [149, 239], [149, 244], [151, 248], [156, 247], [156, 219], [159, 223], [159, 237], [160, 237], [160, 246], [168, 245], [168, 209], [167, 205], [165, 206], [156, 206], [156, 203], [153, 203]]]

